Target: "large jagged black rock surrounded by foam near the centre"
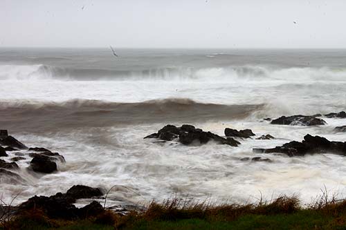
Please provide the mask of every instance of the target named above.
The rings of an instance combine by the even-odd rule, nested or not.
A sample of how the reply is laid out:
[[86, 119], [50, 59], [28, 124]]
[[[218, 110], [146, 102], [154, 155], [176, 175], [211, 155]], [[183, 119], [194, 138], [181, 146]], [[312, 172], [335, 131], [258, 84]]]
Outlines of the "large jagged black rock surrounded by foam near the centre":
[[161, 128], [158, 133], [153, 133], [144, 138], [158, 138], [160, 140], [172, 141], [179, 140], [181, 144], [192, 144], [193, 142], [199, 142], [199, 144], [206, 144], [210, 140], [219, 142], [220, 144], [228, 144], [230, 146], [237, 146], [240, 144], [233, 138], [224, 138], [214, 133], [205, 132], [201, 128], [195, 128], [190, 124], [183, 124], [181, 127], [173, 125], [167, 125]]

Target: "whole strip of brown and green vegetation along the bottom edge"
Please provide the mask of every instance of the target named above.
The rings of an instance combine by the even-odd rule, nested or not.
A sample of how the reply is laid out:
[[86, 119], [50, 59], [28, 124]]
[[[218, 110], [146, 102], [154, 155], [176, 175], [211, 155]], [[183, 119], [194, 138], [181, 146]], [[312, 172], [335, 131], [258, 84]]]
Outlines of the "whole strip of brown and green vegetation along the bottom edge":
[[104, 211], [85, 220], [53, 220], [36, 209], [3, 220], [0, 229], [346, 229], [346, 201], [323, 198], [302, 208], [297, 198], [286, 196], [219, 206], [174, 199], [153, 202], [143, 213]]

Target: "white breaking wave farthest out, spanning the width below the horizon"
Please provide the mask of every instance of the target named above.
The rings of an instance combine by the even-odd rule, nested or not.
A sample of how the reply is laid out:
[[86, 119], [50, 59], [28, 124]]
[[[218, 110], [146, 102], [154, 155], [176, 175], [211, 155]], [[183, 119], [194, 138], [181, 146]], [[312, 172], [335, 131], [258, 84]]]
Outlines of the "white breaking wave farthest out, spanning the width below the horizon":
[[60, 79], [78, 81], [345, 81], [346, 70], [331, 68], [270, 68], [268, 66], [160, 67], [143, 70], [73, 68], [46, 65], [0, 65], [0, 79]]

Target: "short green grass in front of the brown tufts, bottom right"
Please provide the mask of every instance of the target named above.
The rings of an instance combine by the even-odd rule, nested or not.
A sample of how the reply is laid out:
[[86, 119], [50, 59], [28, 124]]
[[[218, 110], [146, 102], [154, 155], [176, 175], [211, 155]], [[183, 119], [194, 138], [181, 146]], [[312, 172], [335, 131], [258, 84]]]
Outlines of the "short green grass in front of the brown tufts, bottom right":
[[[346, 219], [345, 219], [346, 220]], [[338, 223], [333, 217], [326, 217], [315, 211], [299, 211], [280, 215], [244, 215], [234, 221], [208, 221], [186, 219], [176, 221], [138, 220], [123, 230], [226, 230], [226, 229], [346, 229], [345, 223]]]

